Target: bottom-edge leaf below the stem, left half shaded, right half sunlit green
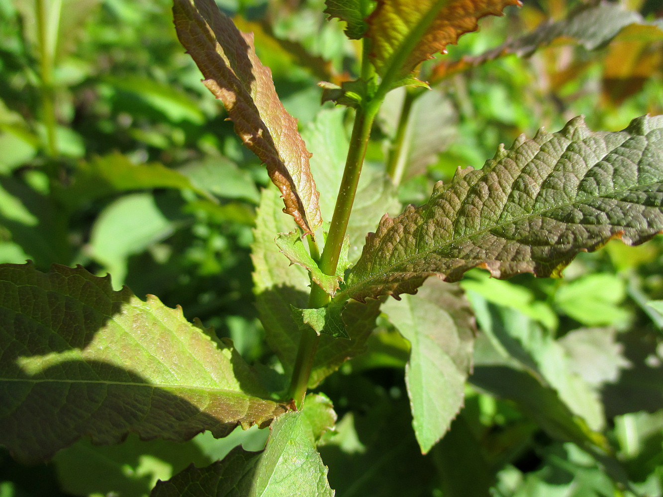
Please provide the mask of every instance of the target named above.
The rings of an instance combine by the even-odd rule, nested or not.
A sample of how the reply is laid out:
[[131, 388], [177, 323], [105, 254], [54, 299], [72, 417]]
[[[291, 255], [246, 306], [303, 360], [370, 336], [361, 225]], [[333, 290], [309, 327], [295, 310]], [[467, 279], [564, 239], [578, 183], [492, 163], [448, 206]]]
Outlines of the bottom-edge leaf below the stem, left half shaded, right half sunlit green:
[[264, 451], [238, 447], [206, 468], [192, 465], [167, 482], [158, 482], [152, 497], [332, 497], [328, 469], [316, 451], [320, 405], [311, 406], [306, 400], [309, 405], [304, 410], [286, 413], [272, 423]]

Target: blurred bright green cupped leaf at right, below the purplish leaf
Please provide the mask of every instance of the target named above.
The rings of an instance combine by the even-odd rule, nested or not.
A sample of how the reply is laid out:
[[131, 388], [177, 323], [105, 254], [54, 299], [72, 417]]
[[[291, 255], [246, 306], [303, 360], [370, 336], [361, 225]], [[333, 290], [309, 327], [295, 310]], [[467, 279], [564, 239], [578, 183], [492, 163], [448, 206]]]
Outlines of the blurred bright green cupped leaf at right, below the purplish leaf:
[[626, 285], [619, 276], [588, 274], [560, 287], [555, 305], [583, 325], [619, 325], [629, 315], [619, 307], [625, 296]]

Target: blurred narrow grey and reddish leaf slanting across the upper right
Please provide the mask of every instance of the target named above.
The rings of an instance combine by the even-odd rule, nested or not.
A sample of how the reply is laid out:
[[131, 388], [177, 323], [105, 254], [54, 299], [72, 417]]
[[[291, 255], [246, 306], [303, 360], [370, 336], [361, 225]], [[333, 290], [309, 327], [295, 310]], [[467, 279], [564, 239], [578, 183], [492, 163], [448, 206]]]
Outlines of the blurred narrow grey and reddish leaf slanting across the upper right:
[[572, 11], [562, 21], [544, 21], [532, 32], [509, 40], [478, 56], [466, 56], [460, 60], [442, 61], [433, 68], [430, 82], [438, 82], [457, 72], [485, 64], [489, 60], [516, 54], [530, 56], [533, 52], [556, 40], [573, 40], [587, 50], [594, 50], [612, 40], [619, 32], [631, 25], [656, 25], [648, 23], [642, 16], [624, 9], [619, 3], [601, 2], [599, 5], [583, 5]]

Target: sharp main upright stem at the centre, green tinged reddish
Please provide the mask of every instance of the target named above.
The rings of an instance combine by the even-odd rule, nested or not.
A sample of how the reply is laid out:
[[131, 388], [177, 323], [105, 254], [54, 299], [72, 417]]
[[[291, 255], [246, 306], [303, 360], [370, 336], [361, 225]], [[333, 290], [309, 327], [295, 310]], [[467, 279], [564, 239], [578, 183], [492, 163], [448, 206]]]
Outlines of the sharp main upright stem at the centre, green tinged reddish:
[[[367, 54], [368, 43], [365, 40], [361, 66], [361, 77], [365, 81], [371, 80], [375, 74], [373, 66], [368, 62]], [[331, 217], [330, 231], [327, 235], [325, 248], [322, 250], [322, 256], [320, 256], [320, 269], [325, 274], [336, 273], [343, 240], [345, 239], [345, 232], [347, 231], [347, 223], [350, 219], [352, 204], [357, 193], [361, 166], [363, 166], [366, 148], [371, 135], [371, 126], [381, 103], [382, 98], [369, 99], [367, 97], [367, 100], [363, 102], [363, 105], [357, 109], [357, 113], [355, 114], [355, 123], [350, 137], [347, 159], [345, 160], [343, 179], [341, 180], [341, 186], [336, 197], [336, 205]], [[329, 302], [330, 296], [318, 285], [311, 283], [308, 307], [310, 309], [317, 309], [318, 307], [324, 307]], [[313, 359], [316, 355], [319, 342], [320, 337], [312, 329], [302, 331], [294, 369], [292, 370], [290, 388], [288, 390], [288, 394], [294, 400], [297, 408], [301, 408], [304, 403], [308, 380], [313, 368]]]

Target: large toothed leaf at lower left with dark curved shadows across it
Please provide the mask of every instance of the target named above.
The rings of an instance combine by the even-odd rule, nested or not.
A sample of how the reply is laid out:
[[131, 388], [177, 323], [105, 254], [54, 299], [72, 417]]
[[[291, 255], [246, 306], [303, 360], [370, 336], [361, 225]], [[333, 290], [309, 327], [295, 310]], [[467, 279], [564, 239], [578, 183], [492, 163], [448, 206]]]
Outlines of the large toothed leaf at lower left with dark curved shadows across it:
[[21, 461], [83, 436], [223, 437], [285, 411], [231, 345], [108, 277], [3, 264], [0, 296], [0, 443]]

